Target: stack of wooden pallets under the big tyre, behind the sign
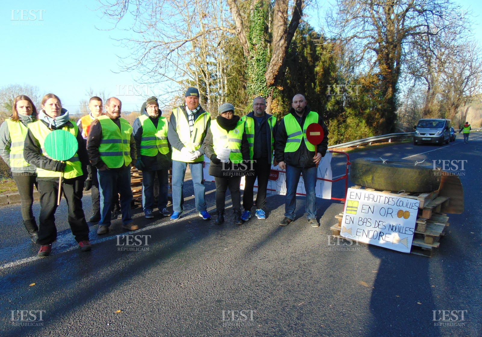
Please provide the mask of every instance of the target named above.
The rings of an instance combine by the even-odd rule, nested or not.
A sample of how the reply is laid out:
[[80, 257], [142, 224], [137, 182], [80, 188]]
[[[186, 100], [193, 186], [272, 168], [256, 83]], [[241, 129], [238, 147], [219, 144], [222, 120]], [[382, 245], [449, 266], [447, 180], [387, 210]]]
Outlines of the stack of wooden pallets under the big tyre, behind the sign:
[[[360, 188], [368, 191], [376, 191], [373, 188], [365, 188], [354, 186], [351, 188]], [[449, 226], [449, 217], [447, 214], [441, 213], [443, 206], [447, 206], [450, 202], [448, 197], [438, 195], [438, 191], [431, 193], [400, 193], [395, 194], [390, 191], [376, 191], [397, 197], [405, 197], [409, 199], [417, 199], [420, 201], [418, 216], [415, 223], [415, 234], [412, 241], [412, 254], [423, 255], [431, 257], [434, 249], [440, 246], [440, 238], [445, 235], [446, 229]], [[330, 227], [334, 237], [340, 237], [341, 222], [343, 212], [335, 215], [338, 220], [337, 225]]]

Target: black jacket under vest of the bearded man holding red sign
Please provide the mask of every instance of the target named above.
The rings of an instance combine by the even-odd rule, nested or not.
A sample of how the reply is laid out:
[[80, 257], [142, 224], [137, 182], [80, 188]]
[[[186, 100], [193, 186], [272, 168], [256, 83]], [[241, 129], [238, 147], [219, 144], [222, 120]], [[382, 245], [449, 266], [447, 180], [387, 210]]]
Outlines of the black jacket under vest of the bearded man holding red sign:
[[[303, 112], [303, 116], [299, 117], [295, 109], [290, 108], [290, 113], [295, 116], [295, 119], [298, 121], [301, 129], [303, 130], [303, 126], [305, 124], [306, 116], [310, 112], [310, 108], [307, 105], [305, 107], [305, 111]], [[317, 152], [321, 153], [321, 156], [324, 157], [326, 150], [328, 150], [328, 128], [326, 127], [321, 115], [318, 114], [318, 124], [321, 125], [324, 132], [323, 140], [320, 144], [316, 147]], [[301, 138], [300, 147], [295, 152], [284, 152], [284, 148], [286, 146], [286, 140], [288, 139], [288, 135], [286, 133], [286, 126], [284, 125], [284, 118], [281, 120], [280, 125], [278, 127], [278, 134], [276, 135], [275, 139], [275, 148], [274, 148], [274, 156], [276, 161], [278, 162], [285, 162], [290, 166], [294, 167], [313, 167], [316, 166], [315, 162], [313, 162], [313, 157], [315, 156], [314, 151], [308, 151], [305, 145], [305, 139]]]

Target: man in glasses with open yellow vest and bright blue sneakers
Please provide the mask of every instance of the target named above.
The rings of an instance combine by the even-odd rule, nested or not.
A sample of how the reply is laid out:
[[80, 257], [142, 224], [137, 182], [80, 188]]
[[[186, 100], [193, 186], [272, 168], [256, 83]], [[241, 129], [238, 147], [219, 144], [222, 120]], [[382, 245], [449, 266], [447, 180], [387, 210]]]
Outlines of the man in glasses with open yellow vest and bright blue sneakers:
[[258, 192], [256, 196], [256, 212], [258, 219], [266, 219], [264, 207], [266, 204], [266, 191], [268, 188], [269, 173], [273, 162], [274, 139], [278, 132], [276, 117], [266, 113], [266, 100], [259, 96], [253, 100], [253, 111], [241, 118], [245, 122], [246, 136], [248, 137], [250, 157], [253, 160], [254, 175], [246, 175], [243, 192], [243, 208], [241, 214], [243, 221], [251, 218], [253, 207], [253, 189], [256, 177], [258, 179]]

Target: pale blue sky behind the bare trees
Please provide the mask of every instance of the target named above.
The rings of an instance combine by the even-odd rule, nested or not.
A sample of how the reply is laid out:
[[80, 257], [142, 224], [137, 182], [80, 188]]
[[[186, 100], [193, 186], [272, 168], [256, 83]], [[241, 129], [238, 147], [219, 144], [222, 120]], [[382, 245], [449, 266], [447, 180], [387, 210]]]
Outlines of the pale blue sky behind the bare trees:
[[[320, 23], [324, 25], [322, 13], [329, 6], [328, 1], [320, 2], [319, 12], [316, 8], [309, 11], [308, 21], [316, 28]], [[482, 41], [480, 0], [460, 0], [459, 3], [478, 15], [474, 19], [477, 25], [474, 25], [473, 32]], [[101, 19], [100, 11], [95, 11], [98, 6], [95, 0], [2, 0], [0, 87], [13, 84], [39, 87], [40, 95], [56, 94], [71, 112], [78, 110], [80, 100], [88, 99], [90, 88], [94, 93], [104, 90], [108, 96], [119, 97], [124, 111], [139, 110], [146, 97], [159, 96], [161, 88], [153, 86], [137, 87], [138, 91], [143, 91], [142, 96], [126, 95], [123, 86], [142, 83], [136, 82], [139, 78], [136, 72], [120, 72], [118, 55], [129, 55], [129, 50], [119, 46], [119, 42], [111, 37], [127, 37], [130, 33], [96, 29], [110, 27]], [[21, 10], [28, 10], [23, 17], [28, 21], [19, 20], [22, 19]], [[36, 20], [30, 11], [36, 11]]]

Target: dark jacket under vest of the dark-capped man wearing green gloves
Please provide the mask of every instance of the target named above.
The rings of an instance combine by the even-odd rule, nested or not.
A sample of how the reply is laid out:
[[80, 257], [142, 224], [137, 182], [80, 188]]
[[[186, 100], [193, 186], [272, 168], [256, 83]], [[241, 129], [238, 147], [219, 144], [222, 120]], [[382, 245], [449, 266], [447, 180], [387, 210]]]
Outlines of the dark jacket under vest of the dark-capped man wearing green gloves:
[[[160, 112], [161, 113], [161, 112]], [[159, 117], [158, 118], [152, 118], [149, 116], [149, 114], [146, 112], [144, 109], [143, 114], [147, 115], [147, 117], [150, 118], [152, 123], [154, 124], [154, 127], [157, 128], [158, 122], [159, 122]], [[166, 120], [167, 122], [167, 120]], [[171, 160], [171, 155], [172, 155], [172, 150], [171, 150], [171, 145], [169, 144], [169, 141], [167, 144], [169, 145], [169, 153], [167, 154], [162, 154], [161, 152], [157, 151], [157, 154], [155, 156], [145, 156], [141, 155], [141, 138], [142, 138], [142, 133], [144, 132], [141, 121], [139, 118], [136, 118], [134, 121], [134, 124], [132, 125], [132, 134], [134, 136], [135, 140], [135, 148], [137, 149], [137, 158], [140, 158], [142, 163], [144, 164], [143, 171], [157, 171], [157, 170], [169, 170], [171, 169], [172, 165], [172, 160]]]

